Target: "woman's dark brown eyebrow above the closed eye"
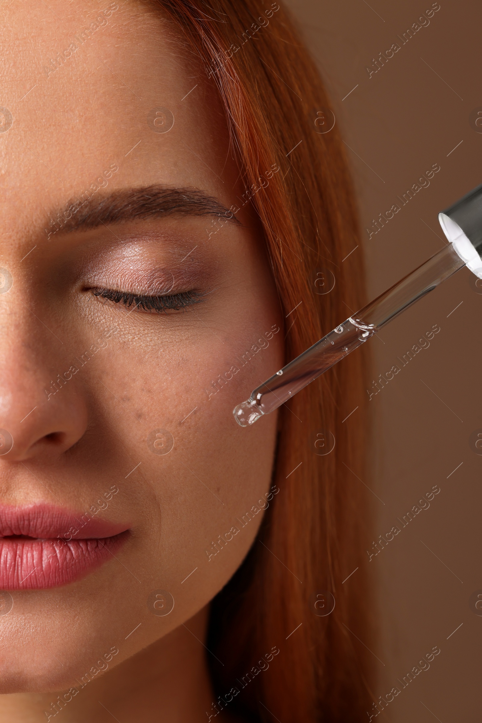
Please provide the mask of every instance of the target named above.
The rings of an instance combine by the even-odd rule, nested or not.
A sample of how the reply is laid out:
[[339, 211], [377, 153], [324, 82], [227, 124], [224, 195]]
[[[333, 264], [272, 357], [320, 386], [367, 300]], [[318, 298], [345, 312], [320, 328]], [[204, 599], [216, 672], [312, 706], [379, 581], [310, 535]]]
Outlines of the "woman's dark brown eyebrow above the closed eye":
[[[158, 184], [119, 189], [110, 194], [85, 192], [74, 197], [59, 212], [51, 215], [59, 231], [78, 231], [122, 221], [180, 216], [225, 216], [241, 225], [231, 210], [217, 198], [197, 188], [171, 188]], [[87, 193], [90, 196], [85, 197]]]

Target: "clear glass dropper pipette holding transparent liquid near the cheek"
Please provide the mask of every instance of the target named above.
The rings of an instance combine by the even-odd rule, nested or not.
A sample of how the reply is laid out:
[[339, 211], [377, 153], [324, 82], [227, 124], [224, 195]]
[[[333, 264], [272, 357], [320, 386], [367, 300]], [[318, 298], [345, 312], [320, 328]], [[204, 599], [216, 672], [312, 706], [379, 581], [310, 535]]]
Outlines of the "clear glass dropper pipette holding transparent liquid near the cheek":
[[450, 241], [447, 247], [251, 392], [249, 399], [233, 410], [241, 427], [254, 424], [291, 399], [463, 266], [482, 278], [482, 185], [439, 213], [439, 221]]

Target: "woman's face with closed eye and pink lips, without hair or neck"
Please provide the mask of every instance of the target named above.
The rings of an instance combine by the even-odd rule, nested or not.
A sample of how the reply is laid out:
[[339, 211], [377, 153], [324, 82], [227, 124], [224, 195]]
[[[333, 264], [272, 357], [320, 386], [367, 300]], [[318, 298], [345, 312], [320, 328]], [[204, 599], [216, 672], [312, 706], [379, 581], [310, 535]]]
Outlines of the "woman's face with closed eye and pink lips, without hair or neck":
[[171, 22], [96, 5], [0, 23], [1, 693], [184, 623], [273, 494], [275, 414], [232, 410], [282, 319], [214, 82]]

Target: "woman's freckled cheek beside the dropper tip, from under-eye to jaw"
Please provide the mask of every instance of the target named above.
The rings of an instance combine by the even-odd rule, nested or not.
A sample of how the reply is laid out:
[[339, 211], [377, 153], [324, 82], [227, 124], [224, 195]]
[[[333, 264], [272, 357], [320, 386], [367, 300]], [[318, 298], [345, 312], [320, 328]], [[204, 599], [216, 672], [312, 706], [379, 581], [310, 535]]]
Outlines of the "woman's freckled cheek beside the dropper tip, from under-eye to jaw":
[[[129, 441], [112, 454], [127, 471], [141, 462], [121, 486], [141, 512], [132, 564], [142, 562], [163, 581], [153, 587], [173, 594], [171, 625], [228, 581], [262, 521], [252, 508], [270, 486], [277, 414], [242, 428], [232, 412], [283, 365], [282, 330], [269, 346], [251, 349], [280, 323], [268, 307], [231, 325], [207, 320], [208, 330], [173, 335], [176, 343], [119, 339], [99, 355], [104, 372], [110, 369], [109, 389], [124, 401], [119, 414], [116, 398], [105, 398], [112, 438]], [[233, 527], [239, 532], [228, 534]], [[194, 568], [197, 594], [185, 599], [181, 581]]]

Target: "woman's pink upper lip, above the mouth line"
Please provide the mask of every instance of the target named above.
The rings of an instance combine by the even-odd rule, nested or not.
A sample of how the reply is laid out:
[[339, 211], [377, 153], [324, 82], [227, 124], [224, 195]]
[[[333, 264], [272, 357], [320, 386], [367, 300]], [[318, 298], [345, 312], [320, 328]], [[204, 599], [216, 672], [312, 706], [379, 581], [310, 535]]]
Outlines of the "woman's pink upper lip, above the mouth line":
[[127, 529], [129, 524], [123, 522], [111, 522], [98, 518], [97, 514], [73, 512], [46, 503], [23, 506], [0, 503], [0, 537], [103, 539]]

